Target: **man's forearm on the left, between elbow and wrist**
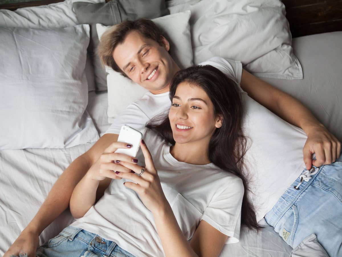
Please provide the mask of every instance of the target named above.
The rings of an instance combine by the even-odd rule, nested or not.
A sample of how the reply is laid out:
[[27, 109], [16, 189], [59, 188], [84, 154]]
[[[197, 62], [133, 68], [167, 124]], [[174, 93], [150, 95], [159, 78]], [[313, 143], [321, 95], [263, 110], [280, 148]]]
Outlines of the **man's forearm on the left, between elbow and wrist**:
[[90, 163], [83, 156], [75, 159], [53, 185], [27, 229], [38, 235], [69, 206], [71, 194], [77, 183], [89, 170]]

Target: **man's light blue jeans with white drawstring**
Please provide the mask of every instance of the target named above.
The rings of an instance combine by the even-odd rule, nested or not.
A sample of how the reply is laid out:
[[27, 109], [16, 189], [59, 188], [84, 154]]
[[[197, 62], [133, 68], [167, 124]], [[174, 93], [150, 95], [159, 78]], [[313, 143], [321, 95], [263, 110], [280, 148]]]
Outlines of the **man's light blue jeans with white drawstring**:
[[265, 215], [267, 223], [293, 248], [316, 234], [330, 257], [342, 256], [341, 161], [342, 155], [330, 165], [315, 167], [318, 173], [296, 189], [298, 178]]

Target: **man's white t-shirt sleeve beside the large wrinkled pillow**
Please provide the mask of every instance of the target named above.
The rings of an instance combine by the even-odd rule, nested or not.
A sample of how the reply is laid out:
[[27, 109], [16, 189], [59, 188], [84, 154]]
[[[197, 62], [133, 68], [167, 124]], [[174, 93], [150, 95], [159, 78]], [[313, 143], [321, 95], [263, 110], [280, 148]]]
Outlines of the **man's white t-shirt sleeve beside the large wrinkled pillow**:
[[241, 82], [242, 64], [240, 61], [234, 61], [222, 57], [212, 57], [209, 60], [202, 62], [200, 64], [214, 66], [227, 76], [235, 78], [237, 83], [240, 84]]

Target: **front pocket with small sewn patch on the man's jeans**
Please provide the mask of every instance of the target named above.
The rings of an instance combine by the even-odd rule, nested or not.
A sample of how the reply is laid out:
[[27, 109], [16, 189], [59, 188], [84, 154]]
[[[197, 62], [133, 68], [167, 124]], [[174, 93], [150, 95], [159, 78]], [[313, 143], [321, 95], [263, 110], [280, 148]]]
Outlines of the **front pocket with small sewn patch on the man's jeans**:
[[291, 247], [293, 247], [293, 238], [298, 227], [298, 221], [299, 216], [297, 206], [292, 205], [276, 225], [276, 230], [278, 231], [279, 235]]

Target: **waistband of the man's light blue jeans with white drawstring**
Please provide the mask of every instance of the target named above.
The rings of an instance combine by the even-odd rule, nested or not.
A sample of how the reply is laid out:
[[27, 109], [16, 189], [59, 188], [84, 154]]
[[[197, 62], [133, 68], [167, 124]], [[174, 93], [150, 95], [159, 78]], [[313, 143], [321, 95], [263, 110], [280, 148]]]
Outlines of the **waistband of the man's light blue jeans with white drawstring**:
[[[284, 194], [280, 196], [277, 203], [273, 206], [273, 208], [269, 211], [272, 212], [272, 215], [267, 215], [267, 223], [270, 224], [272, 227], [275, 227], [275, 225], [278, 223], [280, 218], [284, 215], [284, 213], [295, 203], [295, 201], [299, 198], [299, 196], [305, 191], [305, 189], [311, 185], [312, 181], [316, 178], [316, 176], [319, 174], [321, 169], [324, 167], [324, 165], [320, 167], [312, 166], [315, 169], [319, 169], [318, 172], [314, 175], [312, 175], [311, 179], [309, 181], [303, 181], [302, 184], [298, 189], [295, 189], [295, 187], [301, 182], [300, 176], [290, 185], [289, 188], [286, 189]], [[306, 171], [303, 170], [301, 174], [303, 174]]]

